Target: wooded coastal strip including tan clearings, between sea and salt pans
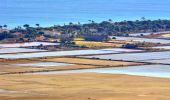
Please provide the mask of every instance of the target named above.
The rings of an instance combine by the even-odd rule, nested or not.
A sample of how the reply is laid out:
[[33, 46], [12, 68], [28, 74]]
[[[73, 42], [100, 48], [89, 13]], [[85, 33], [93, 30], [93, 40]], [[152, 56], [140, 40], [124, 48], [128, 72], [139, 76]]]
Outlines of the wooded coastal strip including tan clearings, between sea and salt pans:
[[[137, 33], [137, 34], [134, 34]], [[142, 17], [136, 21], [124, 20], [114, 22], [112, 19], [97, 23], [89, 20], [86, 24], [72, 23], [68, 25], [53, 25], [43, 27], [37, 23], [34, 26], [24, 24], [23, 26], [8, 29], [8, 25], [0, 25], [0, 40], [11, 42], [35, 42], [49, 41], [49, 38], [63, 39], [63, 41], [74, 40], [74, 38], [85, 38], [87, 41], [106, 41], [108, 36], [132, 36], [134, 34], [139, 37], [144, 37], [150, 34], [150, 38], [158, 37], [158, 34], [164, 34], [158, 38], [169, 39], [167, 33], [170, 33], [170, 20], [149, 20]], [[156, 34], [154, 34], [156, 33]], [[63, 38], [64, 37], [64, 38]]]

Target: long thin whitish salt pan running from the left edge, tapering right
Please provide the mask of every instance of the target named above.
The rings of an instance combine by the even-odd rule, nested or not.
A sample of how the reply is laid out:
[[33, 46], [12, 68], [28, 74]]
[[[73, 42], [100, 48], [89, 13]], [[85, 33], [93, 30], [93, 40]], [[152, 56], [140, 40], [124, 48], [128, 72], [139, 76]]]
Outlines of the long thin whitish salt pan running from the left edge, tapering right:
[[38, 53], [24, 53], [24, 54], [5, 54], [0, 55], [0, 58], [5, 59], [20, 59], [20, 58], [39, 58], [39, 57], [55, 57], [55, 56], [76, 56], [76, 55], [95, 55], [108, 53], [122, 53], [122, 52], [138, 52], [141, 50], [133, 49], [98, 49], [98, 50], [73, 50], [73, 51], [53, 51], [53, 52], [38, 52]]

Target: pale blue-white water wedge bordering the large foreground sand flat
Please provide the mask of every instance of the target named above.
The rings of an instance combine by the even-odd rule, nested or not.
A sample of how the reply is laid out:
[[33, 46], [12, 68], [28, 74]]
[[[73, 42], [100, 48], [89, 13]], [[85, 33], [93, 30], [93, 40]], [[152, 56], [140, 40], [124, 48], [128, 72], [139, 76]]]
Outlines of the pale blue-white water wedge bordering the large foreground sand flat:
[[70, 74], [70, 73], [91, 73], [91, 72], [170, 78], [169, 65], [143, 65], [143, 66], [118, 67], [118, 68], [69, 70], [69, 71], [57, 71], [57, 72], [37, 72], [33, 74]]

